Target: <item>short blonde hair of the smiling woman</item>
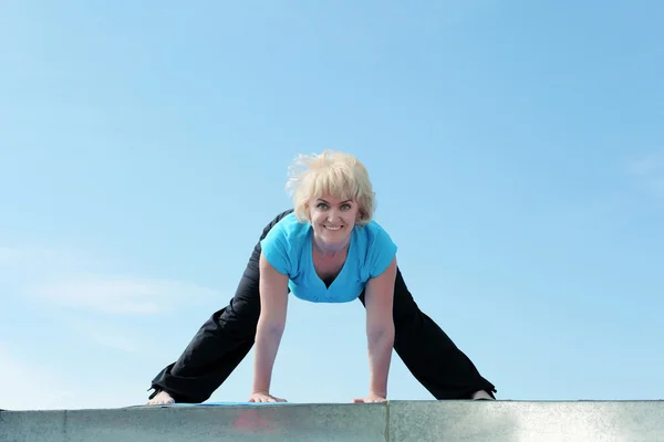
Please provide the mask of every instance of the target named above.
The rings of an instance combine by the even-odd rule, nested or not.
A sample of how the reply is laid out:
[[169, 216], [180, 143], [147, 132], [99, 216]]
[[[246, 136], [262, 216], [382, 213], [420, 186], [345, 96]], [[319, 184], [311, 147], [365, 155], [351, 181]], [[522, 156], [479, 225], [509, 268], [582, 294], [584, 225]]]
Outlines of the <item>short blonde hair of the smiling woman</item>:
[[375, 193], [369, 172], [354, 156], [334, 150], [320, 155], [298, 155], [289, 167], [287, 190], [293, 199], [295, 218], [310, 221], [308, 204], [323, 193], [340, 199], [353, 199], [360, 206], [357, 225], [373, 219]]

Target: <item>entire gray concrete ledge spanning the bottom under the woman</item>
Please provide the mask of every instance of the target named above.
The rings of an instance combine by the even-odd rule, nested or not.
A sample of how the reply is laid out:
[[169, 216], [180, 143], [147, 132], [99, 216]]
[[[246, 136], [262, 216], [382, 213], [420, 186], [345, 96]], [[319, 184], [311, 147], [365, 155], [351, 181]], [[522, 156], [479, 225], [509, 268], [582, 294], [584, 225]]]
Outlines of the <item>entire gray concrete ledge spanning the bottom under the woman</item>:
[[661, 442], [664, 401], [393, 401], [0, 411], [0, 442]]

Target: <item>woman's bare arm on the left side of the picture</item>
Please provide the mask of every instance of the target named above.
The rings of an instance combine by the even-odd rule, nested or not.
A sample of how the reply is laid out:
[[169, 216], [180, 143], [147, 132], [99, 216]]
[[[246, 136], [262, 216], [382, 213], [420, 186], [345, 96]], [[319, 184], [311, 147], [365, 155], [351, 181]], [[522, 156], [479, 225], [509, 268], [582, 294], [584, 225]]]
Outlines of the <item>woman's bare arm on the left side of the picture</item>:
[[253, 386], [250, 402], [280, 402], [270, 394], [272, 368], [286, 328], [288, 275], [279, 273], [260, 255], [260, 317], [256, 329]]

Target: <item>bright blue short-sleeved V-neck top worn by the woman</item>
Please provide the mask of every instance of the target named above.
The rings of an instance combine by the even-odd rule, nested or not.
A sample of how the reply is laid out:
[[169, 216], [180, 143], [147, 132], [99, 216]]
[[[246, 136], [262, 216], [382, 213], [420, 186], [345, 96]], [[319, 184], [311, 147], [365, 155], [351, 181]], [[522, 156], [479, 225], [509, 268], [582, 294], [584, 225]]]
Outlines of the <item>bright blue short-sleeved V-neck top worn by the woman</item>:
[[347, 303], [360, 296], [366, 282], [383, 273], [396, 254], [396, 244], [375, 221], [355, 225], [347, 256], [330, 287], [313, 267], [313, 229], [294, 213], [281, 219], [260, 242], [268, 262], [289, 276], [288, 287], [300, 299], [313, 303]]

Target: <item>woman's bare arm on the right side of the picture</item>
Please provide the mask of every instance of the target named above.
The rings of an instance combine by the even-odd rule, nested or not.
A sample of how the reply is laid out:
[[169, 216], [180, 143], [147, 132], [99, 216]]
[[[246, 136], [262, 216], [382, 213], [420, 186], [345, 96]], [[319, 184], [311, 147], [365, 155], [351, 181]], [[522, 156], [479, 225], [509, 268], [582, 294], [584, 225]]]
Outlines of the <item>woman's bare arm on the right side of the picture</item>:
[[366, 338], [369, 347], [369, 396], [355, 402], [387, 399], [387, 373], [394, 347], [393, 297], [396, 278], [396, 257], [378, 276], [369, 280], [364, 303], [366, 306]]

